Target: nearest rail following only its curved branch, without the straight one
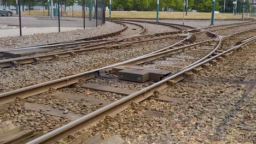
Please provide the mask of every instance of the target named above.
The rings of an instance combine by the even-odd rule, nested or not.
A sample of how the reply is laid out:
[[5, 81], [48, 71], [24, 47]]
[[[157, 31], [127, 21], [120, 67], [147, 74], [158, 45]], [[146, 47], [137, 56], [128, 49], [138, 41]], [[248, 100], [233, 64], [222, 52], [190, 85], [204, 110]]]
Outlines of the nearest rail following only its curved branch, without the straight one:
[[[218, 37], [218, 35], [217, 35]], [[213, 52], [215, 52], [218, 47], [221, 44], [221, 39], [219, 39], [219, 44], [214, 48], [213, 51], [208, 53], [207, 56], [203, 58], [207, 58], [208, 56], [212, 55]], [[100, 121], [100, 118], [103, 118], [104, 116], [112, 116], [115, 115], [129, 107], [132, 103], [139, 103], [142, 100], [145, 100], [149, 98], [151, 95], [153, 95], [154, 91], [161, 90], [166, 87], [168, 87], [167, 82], [176, 78], [179, 75], [184, 74], [186, 71], [193, 69], [196, 67], [199, 63], [203, 61], [203, 58], [199, 59], [195, 63], [189, 65], [185, 69], [178, 71], [176, 74], [172, 74], [171, 76], [167, 77], [164, 80], [161, 80], [160, 82], [154, 83], [153, 85], [143, 88], [138, 92], [135, 92], [133, 94], [128, 95], [127, 97], [117, 100], [112, 104], [109, 104], [107, 106], [102, 107], [101, 109], [98, 109], [92, 113], [89, 113], [86, 116], [83, 116], [82, 118], [79, 118], [71, 123], [68, 123], [67, 125], [64, 125], [58, 129], [55, 129], [43, 136], [38, 137], [35, 140], [32, 140], [31, 142], [28, 142], [28, 144], [34, 144], [34, 143], [52, 143], [56, 140], [59, 140], [63, 138], [63, 136], [67, 136], [68, 134], [74, 133], [75, 131], [78, 131], [80, 129], [88, 128], [92, 123], [96, 123]], [[163, 86], [162, 86], [163, 85]]]

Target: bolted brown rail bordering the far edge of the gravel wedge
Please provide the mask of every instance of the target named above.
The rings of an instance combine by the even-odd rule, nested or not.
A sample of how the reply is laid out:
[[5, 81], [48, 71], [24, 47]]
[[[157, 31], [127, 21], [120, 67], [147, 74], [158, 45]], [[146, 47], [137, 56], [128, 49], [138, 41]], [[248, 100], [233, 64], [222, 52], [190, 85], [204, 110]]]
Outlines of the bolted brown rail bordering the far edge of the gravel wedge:
[[[114, 41], [103, 43], [103, 46], [98, 46], [98, 45], [102, 45], [102, 44], [95, 44], [95, 45], [90, 45], [90, 46], [76, 47], [74, 49], [69, 49], [69, 50], [42, 53], [42, 54], [33, 55], [33, 56], [4, 59], [4, 60], [0, 60], [0, 68], [6, 68], [6, 67], [15, 66], [18, 64], [28, 64], [28, 63], [33, 63], [33, 62], [39, 63], [39, 61], [46, 61], [46, 60], [52, 60], [52, 59], [57, 59], [57, 58], [61, 58], [61, 57], [74, 56], [77, 53], [79, 53], [81, 55], [84, 52], [91, 51], [91, 50], [110, 49], [112, 47], [117, 47], [117, 46], [136, 45], [136, 44], [145, 43], [147, 41], [170, 39], [170, 38], [176, 38], [176, 37], [179, 38], [179, 35], [167, 35], [167, 36], [159, 37], [159, 38], [150, 38], [150, 39], [144, 39], [144, 40], [139, 40], [139, 41], [131, 41], [131, 42], [127, 42], [127, 43], [121, 43], [121, 44], [104, 45], [104, 44], [107, 44], [110, 42], [113, 43], [116, 41], [120, 41], [120, 40], [114, 40]], [[183, 39], [181, 42], [183, 42], [186, 39], [187, 38]], [[98, 46], [98, 47], [94, 47], [94, 46]], [[86, 48], [86, 47], [89, 47], [89, 48]]]

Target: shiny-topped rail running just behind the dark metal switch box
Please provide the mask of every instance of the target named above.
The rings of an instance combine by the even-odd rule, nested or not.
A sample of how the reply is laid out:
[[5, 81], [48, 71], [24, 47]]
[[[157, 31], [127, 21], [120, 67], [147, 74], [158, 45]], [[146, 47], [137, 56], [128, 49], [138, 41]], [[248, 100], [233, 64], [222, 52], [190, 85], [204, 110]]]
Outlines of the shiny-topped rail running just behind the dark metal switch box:
[[[187, 38], [189, 38], [189, 36]], [[199, 43], [199, 44], [201, 44], [201, 43]], [[175, 46], [175, 45], [177, 45], [177, 43], [173, 44], [172, 46]], [[109, 66], [106, 66], [103, 68], [98, 68], [95, 70], [86, 71], [84, 73], [63, 77], [61, 79], [56, 79], [56, 80], [52, 80], [52, 81], [48, 81], [48, 82], [39, 83], [37, 85], [16, 89], [14, 91], [0, 93], [0, 105], [9, 103], [10, 101], [13, 101], [17, 97], [27, 98], [32, 95], [44, 93], [44, 92], [48, 91], [50, 88], [57, 89], [57, 88], [72, 85], [74, 83], [77, 83], [80, 79], [83, 79], [83, 80], [91, 79], [92, 77], [95, 77], [97, 75], [105, 73], [105, 70], [107, 70], [107, 69], [111, 69], [111, 68], [118, 67], [120, 65], [129, 64], [129, 63], [130, 64], [141, 63], [143, 61], [148, 61], [150, 59], [156, 59], [158, 57], [170, 55], [171, 53], [175, 53], [175, 51], [179, 51], [181, 49], [184, 49], [184, 48], [190, 47], [190, 46], [194, 46], [194, 45], [196, 45], [196, 44], [183, 46], [181, 48], [178, 47], [176, 49], [171, 49], [171, 50], [160, 52], [160, 53], [155, 53], [154, 55], [149, 55], [149, 56], [145, 55], [145, 57], [141, 56], [141, 57], [137, 57], [137, 58], [132, 58], [127, 61], [120, 62], [117, 64], [112, 64], [112, 65], [109, 65]], [[146, 59], [148, 59], [148, 60], [146, 60]]]

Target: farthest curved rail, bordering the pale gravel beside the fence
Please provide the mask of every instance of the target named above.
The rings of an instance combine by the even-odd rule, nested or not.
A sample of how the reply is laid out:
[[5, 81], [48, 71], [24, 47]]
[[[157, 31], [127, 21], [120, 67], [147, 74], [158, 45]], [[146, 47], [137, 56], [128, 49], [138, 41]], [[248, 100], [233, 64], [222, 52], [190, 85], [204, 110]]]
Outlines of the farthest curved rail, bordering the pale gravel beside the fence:
[[[97, 42], [97, 41], [109, 40], [109, 39], [99, 39], [99, 38], [114, 37], [117, 34], [120, 34], [121, 32], [123, 32], [127, 29], [127, 26], [124, 23], [121, 23], [121, 22], [116, 22], [116, 23], [119, 23], [120, 25], [123, 26], [123, 28], [120, 29], [117, 32], [98, 35], [98, 36], [89, 37], [89, 38], [75, 39], [75, 40], [69, 40], [69, 41], [61, 41], [59, 43], [33, 45], [33, 46], [25, 46], [25, 47], [15, 47], [15, 48], [12, 48], [12, 49], [0, 50], [0, 52], [10, 51], [10, 50], [19, 50], [19, 49], [31, 49], [31, 48], [42, 48], [42, 47], [45, 48], [45, 47], [54, 47], [54, 46], [63, 46], [63, 45], [75, 45], [75, 44], [92, 43], [92, 42]], [[94, 40], [91, 40], [91, 39], [94, 39]], [[81, 40], [83, 40], [83, 41], [81, 41]]]

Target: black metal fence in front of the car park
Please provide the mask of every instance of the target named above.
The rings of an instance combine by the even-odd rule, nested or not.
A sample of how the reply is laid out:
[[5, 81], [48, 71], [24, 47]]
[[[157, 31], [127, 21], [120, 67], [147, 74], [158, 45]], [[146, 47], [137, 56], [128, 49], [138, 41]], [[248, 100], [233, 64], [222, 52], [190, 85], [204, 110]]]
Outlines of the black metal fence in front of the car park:
[[0, 0], [0, 37], [97, 27], [105, 10], [105, 0]]

